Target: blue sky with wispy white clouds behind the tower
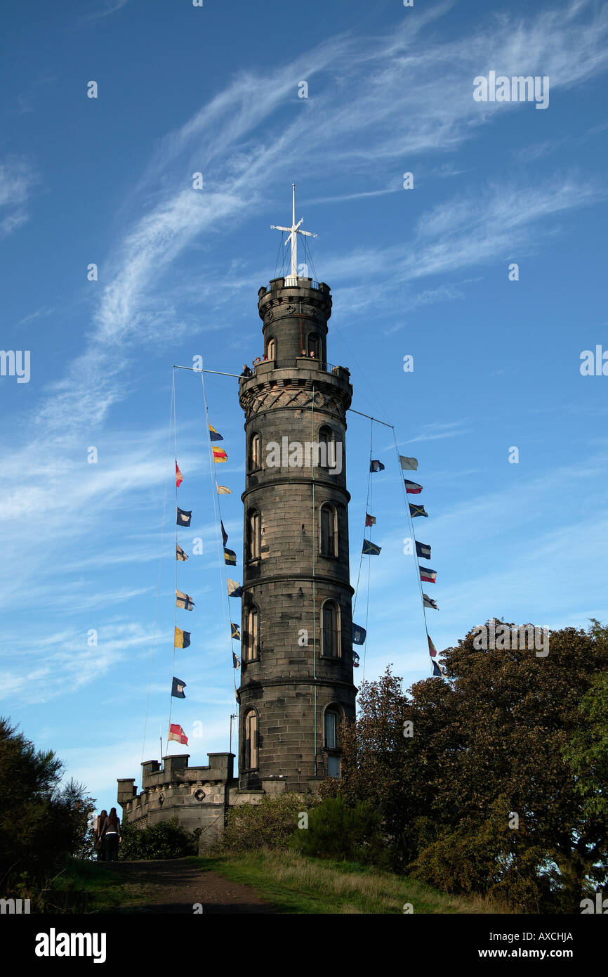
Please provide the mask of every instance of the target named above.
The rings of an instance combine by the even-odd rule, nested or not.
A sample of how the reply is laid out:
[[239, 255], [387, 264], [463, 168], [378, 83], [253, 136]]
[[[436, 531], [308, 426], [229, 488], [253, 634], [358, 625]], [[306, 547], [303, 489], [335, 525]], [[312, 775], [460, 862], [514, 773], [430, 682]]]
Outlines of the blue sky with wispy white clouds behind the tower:
[[[142, 752], [157, 755], [173, 673], [171, 366], [239, 372], [261, 352], [269, 225], [288, 223], [293, 181], [334, 298], [328, 359], [349, 367], [353, 407], [420, 460], [437, 648], [489, 616], [608, 619], [608, 377], [580, 372], [584, 350], [608, 349], [605, 5], [62, 0], [35, 17], [12, 5], [1, 34], [1, 345], [31, 363], [28, 383], [0, 377], [3, 714], [106, 807], [115, 779], [140, 784]], [[548, 107], [475, 102], [491, 70], [547, 75]], [[181, 542], [204, 551], [179, 567], [197, 607], [179, 613], [192, 645], [173, 720], [206, 763], [227, 748], [232, 668], [200, 376], [178, 371], [176, 397], [194, 511]], [[206, 397], [240, 579], [235, 381], [209, 376]], [[369, 568], [365, 677], [392, 662], [409, 685], [429, 671], [424, 619], [391, 434], [373, 438], [383, 550], [355, 619]], [[351, 415], [354, 578], [369, 447]]]

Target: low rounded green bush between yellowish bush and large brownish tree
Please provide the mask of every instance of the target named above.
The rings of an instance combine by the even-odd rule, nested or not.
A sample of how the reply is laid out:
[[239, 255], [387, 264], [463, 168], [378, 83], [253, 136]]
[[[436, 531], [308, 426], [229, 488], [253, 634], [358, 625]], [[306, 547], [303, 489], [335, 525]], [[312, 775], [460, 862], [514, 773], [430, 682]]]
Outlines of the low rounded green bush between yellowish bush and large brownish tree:
[[310, 812], [308, 828], [296, 832], [291, 847], [320, 858], [385, 864], [381, 815], [368, 801], [347, 807], [344, 798], [328, 797]]

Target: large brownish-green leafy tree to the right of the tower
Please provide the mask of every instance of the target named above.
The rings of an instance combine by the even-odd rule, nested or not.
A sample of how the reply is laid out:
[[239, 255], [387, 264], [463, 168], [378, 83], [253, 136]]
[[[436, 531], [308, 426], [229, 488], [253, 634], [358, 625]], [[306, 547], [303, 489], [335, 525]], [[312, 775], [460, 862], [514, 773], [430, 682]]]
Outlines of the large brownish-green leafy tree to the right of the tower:
[[393, 865], [431, 884], [578, 912], [608, 872], [608, 629], [552, 631], [547, 658], [476, 650], [470, 633], [444, 660], [448, 681], [408, 694], [389, 669], [364, 684], [325, 793], [374, 804]]

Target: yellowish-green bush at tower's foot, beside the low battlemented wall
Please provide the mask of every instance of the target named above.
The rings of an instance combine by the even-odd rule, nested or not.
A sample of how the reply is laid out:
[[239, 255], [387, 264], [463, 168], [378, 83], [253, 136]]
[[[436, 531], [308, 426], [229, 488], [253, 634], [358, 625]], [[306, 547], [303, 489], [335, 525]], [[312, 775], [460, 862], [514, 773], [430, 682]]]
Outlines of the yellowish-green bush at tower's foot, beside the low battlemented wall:
[[244, 852], [255, 848], [286, 848], [295, 830], [298, 816], [310, 803], [303, 794], [264, 795], [259, 804], [242, 804], [230, 808], [223, 830], [222, 848]]

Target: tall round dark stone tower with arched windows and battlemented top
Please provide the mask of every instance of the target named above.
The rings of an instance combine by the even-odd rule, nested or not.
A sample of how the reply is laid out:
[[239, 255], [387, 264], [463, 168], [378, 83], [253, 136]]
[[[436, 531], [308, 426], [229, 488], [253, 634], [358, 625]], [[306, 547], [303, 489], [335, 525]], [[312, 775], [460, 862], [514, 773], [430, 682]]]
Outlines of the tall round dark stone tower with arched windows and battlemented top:
[[340, 776], [339, 727], [355, 713], [345, 473], [352, 387], [348, 370], [327, 361], [326, 284], [292, 269], [258, 295], [267, 359], [239, 380], [247, 452], [239, 784], [304, 788]]

